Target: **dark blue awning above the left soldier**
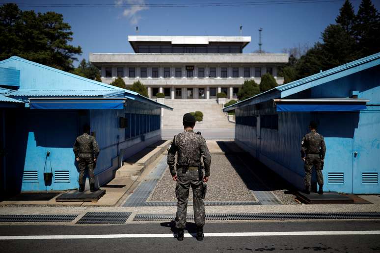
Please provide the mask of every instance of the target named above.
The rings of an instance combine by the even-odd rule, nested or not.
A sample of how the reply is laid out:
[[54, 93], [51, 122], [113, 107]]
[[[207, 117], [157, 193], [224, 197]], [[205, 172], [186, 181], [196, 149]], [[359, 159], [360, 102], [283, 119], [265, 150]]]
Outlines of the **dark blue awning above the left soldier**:
[[125, 98], [33, 98], [29, 99], [30, 109], [123, 109]]

